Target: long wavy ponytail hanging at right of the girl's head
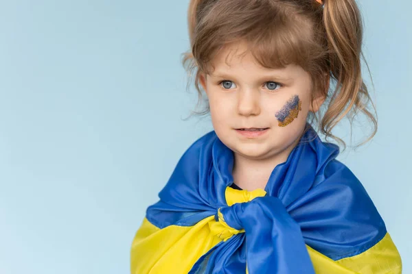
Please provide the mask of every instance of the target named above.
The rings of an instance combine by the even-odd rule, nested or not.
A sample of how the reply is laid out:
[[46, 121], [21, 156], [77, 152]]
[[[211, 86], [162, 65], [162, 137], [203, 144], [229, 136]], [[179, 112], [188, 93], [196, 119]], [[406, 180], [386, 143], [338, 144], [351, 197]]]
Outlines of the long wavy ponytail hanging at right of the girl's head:
[[[333, 136], [332, 128], [344, 116], [352, 110], [353, 115], [350, 120], [352, 124], [354, 115], [361, 111], [373, 125], [372, 133], [365, 141], [367, 142], [376, 134], [377, 119], [367, 110], [367, 103], [370, 102], [376, 115], [376, 108], [361, 75], [361, 57], [363, 57], [361, 12], [355, 0], [324, 0], [323, 3], [323, 24], [328, 40], [328, 60], [330, 73], [336, 79], [336, 88], [330, 96], [328, 110], [323, 115], [321, 132], [325, 136]], [[345, 145], [341, 139], [336, 139]]]

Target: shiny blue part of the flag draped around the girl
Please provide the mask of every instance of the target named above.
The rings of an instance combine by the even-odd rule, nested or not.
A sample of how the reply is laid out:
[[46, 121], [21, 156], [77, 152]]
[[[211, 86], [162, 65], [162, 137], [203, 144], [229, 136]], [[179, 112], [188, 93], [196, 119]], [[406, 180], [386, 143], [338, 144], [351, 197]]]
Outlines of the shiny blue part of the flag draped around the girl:
[[220, 208], [245, 233], [220, 242], [190, 273], [314, 273], [306, 245], [339, 260], [361, 253], [387, 230], [361, 182], [336, 160], [339, 147], [308, 131], [268, 179], [266, 196], [227, 206], [233, 151], [211, 131], [176, 164], [147, 219], [159, 228], [192, 226]]

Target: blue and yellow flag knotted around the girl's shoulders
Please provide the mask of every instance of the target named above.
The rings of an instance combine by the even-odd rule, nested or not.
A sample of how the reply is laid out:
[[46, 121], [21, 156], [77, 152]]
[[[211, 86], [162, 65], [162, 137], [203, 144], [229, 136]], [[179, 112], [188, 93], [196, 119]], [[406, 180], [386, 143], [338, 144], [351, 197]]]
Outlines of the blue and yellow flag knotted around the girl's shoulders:
[[312, 127], [301, 140], [253, 191], [232, 187], [233, 151], [214, 131], [196, 140], [148, 208], [130, 272], [401, 273], [374, 203], [335, 159], [339, 147]]

